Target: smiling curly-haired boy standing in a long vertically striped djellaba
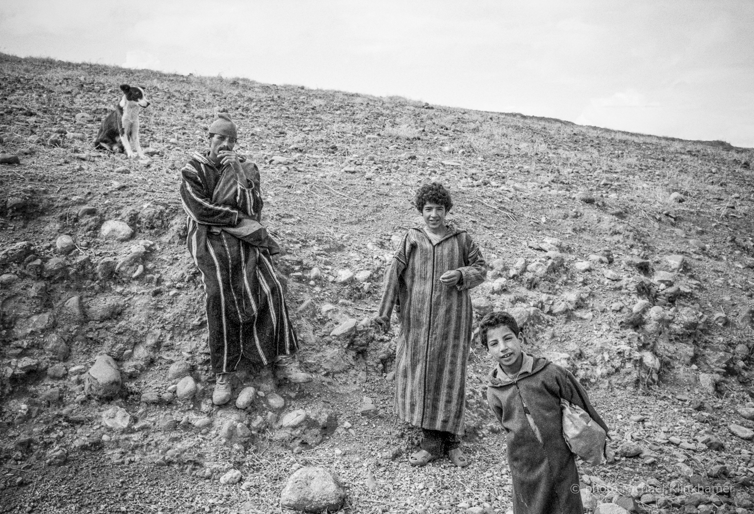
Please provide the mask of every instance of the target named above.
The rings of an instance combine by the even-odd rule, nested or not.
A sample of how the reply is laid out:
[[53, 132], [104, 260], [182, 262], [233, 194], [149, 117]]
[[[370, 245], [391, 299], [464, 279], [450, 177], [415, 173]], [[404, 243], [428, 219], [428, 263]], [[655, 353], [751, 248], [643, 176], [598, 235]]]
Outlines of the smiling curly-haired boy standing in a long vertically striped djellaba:
[[409, 463], [425, 466], [447, 454], [456, 466], [467, 466], [459, 438], [472, 334], [469, 290], [484, 282], [486, 267], [470, 235], [446, 222], [453, 204], [443, 186], [421, 186], [415, 204], [424, 224], [403, 236], [385, 270], [374, 321], [388, 331], [394, 308], [400, 319], [395, 411], [424, 436]]

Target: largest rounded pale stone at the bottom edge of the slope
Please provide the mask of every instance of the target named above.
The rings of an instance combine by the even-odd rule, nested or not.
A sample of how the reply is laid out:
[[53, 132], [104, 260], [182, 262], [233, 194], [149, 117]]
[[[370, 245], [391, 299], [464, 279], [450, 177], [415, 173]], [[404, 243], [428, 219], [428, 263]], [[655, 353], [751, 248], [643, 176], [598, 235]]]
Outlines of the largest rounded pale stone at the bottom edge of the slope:
[[304, 512], [336, 512], [345, 500], [345, 489], [327, 469], [297, 469], [280, 494], [280, 505]]

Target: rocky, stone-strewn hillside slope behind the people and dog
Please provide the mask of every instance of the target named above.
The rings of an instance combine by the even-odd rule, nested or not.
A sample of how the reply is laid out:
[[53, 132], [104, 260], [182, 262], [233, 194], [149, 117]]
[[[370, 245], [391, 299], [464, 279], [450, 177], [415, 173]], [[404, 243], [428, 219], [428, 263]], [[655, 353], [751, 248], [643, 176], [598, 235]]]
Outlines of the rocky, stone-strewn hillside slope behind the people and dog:
[[[529, 350], [571, 369], [615, 431], [617, 460], [581, 468], [590, 509], [754, 505], [754, 150], [241, 78], [0, 62], [0, 512], [280, 512], [302, 466], [339, 476], [348, 512], [509, 509], [483, 349], [467, 384], [475, 463], [409, 469], [418, 434], [391, 416], [394, 334], [366, 321], [431, 180], [489, 263], [475, 315], [513, 312]], [[93, 151], [121, 83], [152, 101], [149, 159]], [[218, 111], [261, 169], [316, 375], [270, 390], [244, 370], [223, 408], [178, 197]]]

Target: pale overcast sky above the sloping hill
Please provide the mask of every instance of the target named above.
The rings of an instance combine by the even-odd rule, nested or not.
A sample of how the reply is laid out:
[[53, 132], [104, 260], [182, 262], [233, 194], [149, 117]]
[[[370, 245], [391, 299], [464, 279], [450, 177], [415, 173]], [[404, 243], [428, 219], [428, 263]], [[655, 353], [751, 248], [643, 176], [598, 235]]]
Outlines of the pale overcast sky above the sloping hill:
[[26, 0], [0, 51], [754, 147], [754, 2]]

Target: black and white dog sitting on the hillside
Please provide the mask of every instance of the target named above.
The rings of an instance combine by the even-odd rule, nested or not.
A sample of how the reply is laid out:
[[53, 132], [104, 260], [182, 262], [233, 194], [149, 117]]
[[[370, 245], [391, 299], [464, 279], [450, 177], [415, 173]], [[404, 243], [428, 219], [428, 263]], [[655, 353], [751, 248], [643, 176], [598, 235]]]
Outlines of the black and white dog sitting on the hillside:
[[146, 99], [143, 88], [138, 86], [123, 84], [121, 91], [121, 103], [103, 119], [100, 133], [94, 140], [94, 148], [116, 153], [126, 152], [129, 157], [139, 155], [145, 158], [139, 144], [139, 109], [148, 107], [149, 100]]

